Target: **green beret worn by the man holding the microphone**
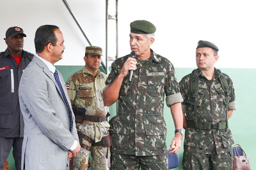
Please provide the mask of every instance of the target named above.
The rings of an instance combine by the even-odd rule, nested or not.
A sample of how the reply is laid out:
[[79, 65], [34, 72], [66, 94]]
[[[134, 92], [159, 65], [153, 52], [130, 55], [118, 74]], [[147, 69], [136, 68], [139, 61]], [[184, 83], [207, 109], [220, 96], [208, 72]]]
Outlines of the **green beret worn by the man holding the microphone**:
[[135, 20], [131, 22], [131, 33], [152, 34], [156, 32], [156, 26], [147, 20]]

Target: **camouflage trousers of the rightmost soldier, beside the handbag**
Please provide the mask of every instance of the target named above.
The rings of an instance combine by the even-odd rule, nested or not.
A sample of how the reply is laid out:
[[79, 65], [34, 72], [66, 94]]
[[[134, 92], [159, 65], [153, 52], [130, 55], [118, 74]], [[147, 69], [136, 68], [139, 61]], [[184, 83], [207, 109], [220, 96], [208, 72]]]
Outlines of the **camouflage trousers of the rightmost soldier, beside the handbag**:
[[231, 151], [221, 154], [202, 154], [196, 152], [186, 151], [184, 148], [183, 169], [221, 169], [221, 170], [232, 170], [233, 169], [233, 157]]

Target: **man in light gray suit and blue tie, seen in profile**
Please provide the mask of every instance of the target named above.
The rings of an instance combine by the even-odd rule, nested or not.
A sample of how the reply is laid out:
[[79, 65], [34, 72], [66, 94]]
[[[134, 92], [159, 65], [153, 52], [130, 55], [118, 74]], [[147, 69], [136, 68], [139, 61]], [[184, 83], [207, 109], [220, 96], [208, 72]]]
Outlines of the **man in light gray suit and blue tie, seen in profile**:
[[68, 169], [68, 159], [81, 148], [67, 88], [54, 66], [62, 59], [63, 42], [57, 26], [36, 30], [36, 54], [19, 86], [25, 124], [22, 169]]

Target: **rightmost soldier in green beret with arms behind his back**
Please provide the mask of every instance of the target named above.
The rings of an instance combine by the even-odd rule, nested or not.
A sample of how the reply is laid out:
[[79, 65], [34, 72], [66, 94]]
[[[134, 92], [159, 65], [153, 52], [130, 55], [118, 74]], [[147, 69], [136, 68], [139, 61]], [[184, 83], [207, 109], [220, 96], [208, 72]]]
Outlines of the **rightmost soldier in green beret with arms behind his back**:
[[218, 58], [218, 47], [200, 40], [198, 69], [179, 83], [186, 129], [183, 169], [232, 169], [234, 141], [227, 120], [236, 109], [235, 93], [230, 77], [214, 68]]

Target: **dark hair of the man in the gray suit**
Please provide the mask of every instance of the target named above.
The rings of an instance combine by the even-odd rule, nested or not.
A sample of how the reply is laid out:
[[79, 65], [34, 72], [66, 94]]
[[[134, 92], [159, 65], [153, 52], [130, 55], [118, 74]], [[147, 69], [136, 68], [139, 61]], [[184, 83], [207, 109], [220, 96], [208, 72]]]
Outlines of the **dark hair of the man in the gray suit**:
[[45, 25], [45, 26], [38, 27], [35, 35], [36, 52], [38, 53], [43, 52], [44, 47], [48, 43], [51, 43], [54, 46], [56, 45], [57, 40], [54, 34], [55, 29], [59, 29], [59, 27], [52, 26], [52, 25]]

